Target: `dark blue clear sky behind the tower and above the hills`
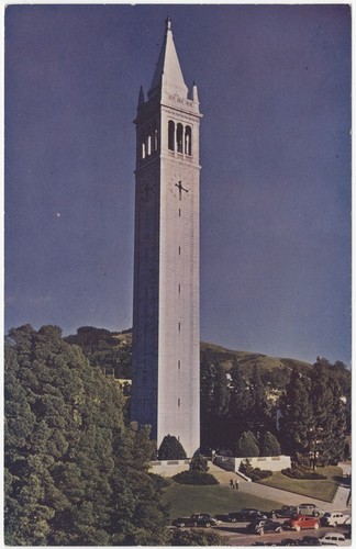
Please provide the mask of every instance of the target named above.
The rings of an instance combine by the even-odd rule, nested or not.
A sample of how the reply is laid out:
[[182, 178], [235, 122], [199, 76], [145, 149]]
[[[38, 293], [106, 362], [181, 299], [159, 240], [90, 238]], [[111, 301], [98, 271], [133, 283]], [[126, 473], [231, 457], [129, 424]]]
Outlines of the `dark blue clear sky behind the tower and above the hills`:
[[165, 19], [201, 111], [201, 338], [351, 361], [351, 9], [10, 5], [5, 329], [132, 324], [135, 117]]

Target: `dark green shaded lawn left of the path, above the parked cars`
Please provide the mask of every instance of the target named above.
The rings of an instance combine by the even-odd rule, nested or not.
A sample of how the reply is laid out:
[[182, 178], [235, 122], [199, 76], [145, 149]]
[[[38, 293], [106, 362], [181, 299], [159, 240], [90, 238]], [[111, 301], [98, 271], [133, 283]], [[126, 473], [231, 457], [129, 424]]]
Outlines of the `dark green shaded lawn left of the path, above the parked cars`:
[[189, 516], [192, 513], [219, 515], [236, 512], [243, 507], [271, 511], [281, 506], [280, 502], [227, 490], [226, 486], [191, 486], [174, 481], [164, 490], [163, 502], [170, 505], [170, 518]]

